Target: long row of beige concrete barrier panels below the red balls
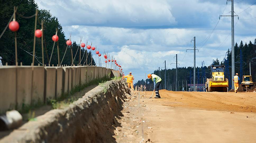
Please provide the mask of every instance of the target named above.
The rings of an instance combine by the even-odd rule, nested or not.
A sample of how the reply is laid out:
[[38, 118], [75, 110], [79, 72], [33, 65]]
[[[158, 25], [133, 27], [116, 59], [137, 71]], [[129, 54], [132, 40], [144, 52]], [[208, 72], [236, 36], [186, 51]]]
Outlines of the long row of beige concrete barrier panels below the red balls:
[[62, 94], [70, 93], [76, 86], [103, 78], [109, 72], [115, 73], [116, 77], [119, 74], [119, 71], [92, 66], [36, 66], [32, 81], [31, 66], [0, 67], [0, 113], [15, 109], [15, 106], [16, 110], [21, 110], [24, 105], [46, 103], [47, 98], [59, 98]]

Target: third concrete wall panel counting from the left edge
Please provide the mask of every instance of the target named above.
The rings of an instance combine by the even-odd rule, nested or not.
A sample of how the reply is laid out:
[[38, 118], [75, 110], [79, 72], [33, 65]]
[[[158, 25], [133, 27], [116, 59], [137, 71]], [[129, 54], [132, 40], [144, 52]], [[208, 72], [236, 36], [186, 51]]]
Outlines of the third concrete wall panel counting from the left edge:
[[33, 96], [32, 104], [40, 104], [44, 102], [45, 92], [45, 69], [44, 67], [34, 67], [33, 76]]

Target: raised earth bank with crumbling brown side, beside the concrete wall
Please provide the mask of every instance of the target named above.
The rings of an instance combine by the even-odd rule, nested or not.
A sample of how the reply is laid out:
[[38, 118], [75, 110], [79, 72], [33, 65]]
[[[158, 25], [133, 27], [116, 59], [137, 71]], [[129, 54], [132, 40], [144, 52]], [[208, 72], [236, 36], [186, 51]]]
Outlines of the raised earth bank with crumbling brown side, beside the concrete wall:
[[130, 96], [124, 80], [100, 84], [65, 109], [39, 116], [0, 142], [116, 142], [122, 104]]

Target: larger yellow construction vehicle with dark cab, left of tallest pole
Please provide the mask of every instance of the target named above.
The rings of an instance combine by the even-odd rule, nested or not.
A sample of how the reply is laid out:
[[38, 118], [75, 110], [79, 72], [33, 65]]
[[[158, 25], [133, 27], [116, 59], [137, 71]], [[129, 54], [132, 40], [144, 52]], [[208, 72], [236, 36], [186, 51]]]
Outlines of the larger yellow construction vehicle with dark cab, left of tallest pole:
[[224, 69], [224, 65], [211, 66], [212, 78], [207, 78], [205, 82], [205, 88], [207, 92], [227, 92], [228, 79], [224, 76]]

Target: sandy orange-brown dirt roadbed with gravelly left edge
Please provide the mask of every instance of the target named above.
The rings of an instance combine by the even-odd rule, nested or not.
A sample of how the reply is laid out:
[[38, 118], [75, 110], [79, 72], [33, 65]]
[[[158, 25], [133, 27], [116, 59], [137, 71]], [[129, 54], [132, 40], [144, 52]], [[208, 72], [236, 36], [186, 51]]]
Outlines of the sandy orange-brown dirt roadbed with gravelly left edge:
[[128, 101], [117, 142], [139, 142], [142, 136], [143, 142], [256, 140], [256, 93], [160, 90], [160, 95], [161, 99], [149, 99], [151, 93], [147, 92], [140, 104], [138, 98]]

